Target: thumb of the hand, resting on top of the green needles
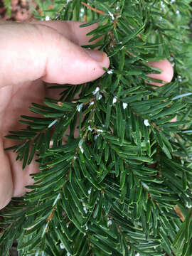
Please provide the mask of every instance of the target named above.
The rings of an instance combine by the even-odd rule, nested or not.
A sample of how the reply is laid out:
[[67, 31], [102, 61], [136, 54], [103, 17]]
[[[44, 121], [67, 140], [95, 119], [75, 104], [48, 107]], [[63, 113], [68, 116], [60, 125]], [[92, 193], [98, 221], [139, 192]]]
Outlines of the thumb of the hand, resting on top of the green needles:
[[0, 23], [0, 34], [0, 87], [38, 78], [75, 85], [99, 78], [110, 65], [105, 53], [85, 50], [45, 25]]

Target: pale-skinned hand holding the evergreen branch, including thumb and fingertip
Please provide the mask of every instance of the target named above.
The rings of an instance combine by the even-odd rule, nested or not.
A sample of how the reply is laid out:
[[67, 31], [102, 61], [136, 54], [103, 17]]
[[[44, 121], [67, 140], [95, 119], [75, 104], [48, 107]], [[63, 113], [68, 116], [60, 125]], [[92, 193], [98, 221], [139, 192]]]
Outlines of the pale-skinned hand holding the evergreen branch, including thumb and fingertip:
[[[23, 196], [28, 191], [25, 186], [34, 182], [29, 174], [38, 172], [35, 161], [22, 170], [16, 154], [4, 151], [15, 144], [4, 136], [24, 128], [18, 119], [21, 114], [31, 115], [31, 102], [41, 104], [44, 97], [54, 97], [54, 90], [50, 95], [45, 82], [73, 86], [100, 78], [105, 73], [102, 67], [109, 68], [105, 53], [87, 53], [80, 47], [88, 44], [86, 34], [97, 24], [79, 26], [75, 21], [0, 22], [0, 209], [12, 197]], [[168, 60], [149, 65], [163, 70], [152, 77], [166, 82], [173, 78]]]

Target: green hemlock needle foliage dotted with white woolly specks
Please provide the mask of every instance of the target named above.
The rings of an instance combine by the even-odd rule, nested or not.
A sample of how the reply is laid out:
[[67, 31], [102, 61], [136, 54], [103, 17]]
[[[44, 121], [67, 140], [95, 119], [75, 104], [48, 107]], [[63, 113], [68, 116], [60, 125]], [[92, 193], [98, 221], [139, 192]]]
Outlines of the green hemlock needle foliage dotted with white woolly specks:
[[[33, 103], [39, 117], [21, 116], [26, 129], [7, 136], [23, 169], [37, 155], [41, 172], [1, 210], [0, 255], [14, 239], [22, 256], [192, 255], [189, 2], [57, 1], [55, 19], [99, 23], [89, 47], [110, 70], [58, 86], [58, 100]], [[146, 75], [161, 71], [147, 62], [164, 58], [174, 79], [154, 88]]]

